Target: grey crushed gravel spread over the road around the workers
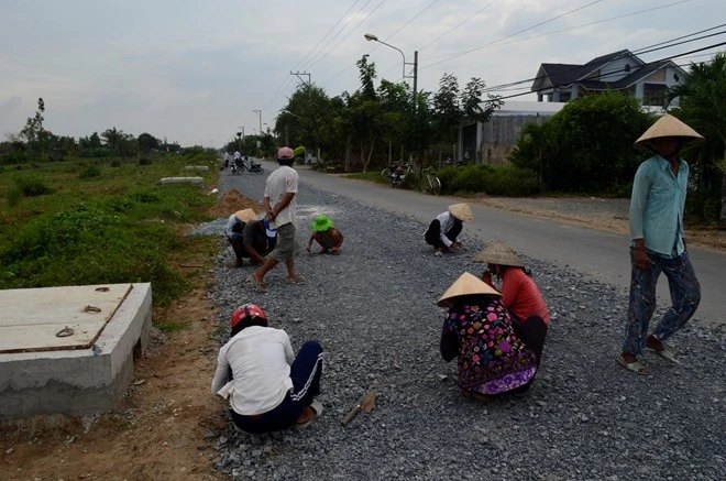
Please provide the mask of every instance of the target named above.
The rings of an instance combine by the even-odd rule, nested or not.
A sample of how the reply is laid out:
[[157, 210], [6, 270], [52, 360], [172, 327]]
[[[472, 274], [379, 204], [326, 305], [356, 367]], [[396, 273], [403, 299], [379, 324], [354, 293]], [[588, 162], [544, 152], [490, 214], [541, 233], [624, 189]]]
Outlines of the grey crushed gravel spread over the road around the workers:
[[[265, 178], [222, 175], [220, 190], [261, 199]], [[326, 411], [302, 430], [220, 433], [219, 471], [240, 480], [726, 479], [724, 329], [692, 323], [671, 343], [683, 367], [648, 356], [650, 375], [627, 373], [615, 362], [627, 298], [526, 259], [552, 315], [543, 365], [529, 393], [483, 405], [460, 394], [455, 361], [439, 356], [444, 309], [436, 300], [463, 271], [481, 273], [470, 260], [490, 239], [468, 238], [464, 227], [472, 250], [435, 258], [424, 223], [302, 185], [300, 243], [320, 212], [345, 243], [339, 256], [298, 259], [305, 285], [288, 284], [278, 265], [258, 294], [244, 282], [253, 267], [230, 269], [231, 249], [220, 252], [212, 294], [220, 321], [254, 302], [295, 349], [318, 339]], [[196, 233], [221, 236], [223, 223]], [[378, 393], [373, 412], [342, 427], [371, 386]]]

